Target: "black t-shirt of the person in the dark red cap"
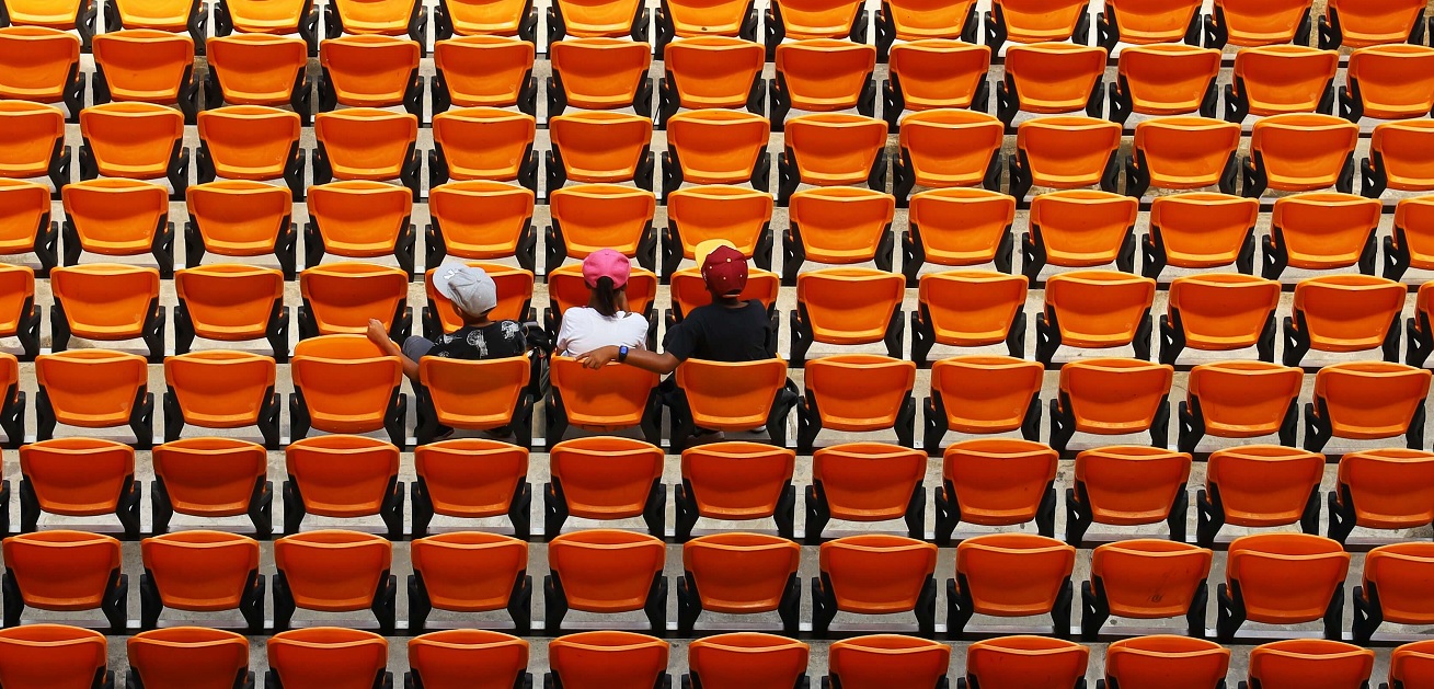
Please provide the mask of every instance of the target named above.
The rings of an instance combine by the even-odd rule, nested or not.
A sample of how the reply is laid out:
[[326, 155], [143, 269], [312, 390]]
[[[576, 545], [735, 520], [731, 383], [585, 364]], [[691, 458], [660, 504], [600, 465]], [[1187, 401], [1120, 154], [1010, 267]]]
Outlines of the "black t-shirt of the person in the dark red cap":
[[663, 350], [678, 361], [761, 361], [774, 357], [774, 341], [767, 308], [753, 299], [741, 308], [720, 304], [694, 308], [667, 331]]

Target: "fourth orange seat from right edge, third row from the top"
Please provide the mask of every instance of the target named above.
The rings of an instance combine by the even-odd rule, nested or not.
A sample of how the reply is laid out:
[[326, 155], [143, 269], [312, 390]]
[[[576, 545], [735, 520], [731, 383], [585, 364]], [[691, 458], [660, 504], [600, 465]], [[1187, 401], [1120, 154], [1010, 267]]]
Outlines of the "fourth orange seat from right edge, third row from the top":
[[1011, 186], [1024, 199], [1031, 186], [1116, 191], [1120, 125], [1093, 117], [1038, 117], [1015, 130]]

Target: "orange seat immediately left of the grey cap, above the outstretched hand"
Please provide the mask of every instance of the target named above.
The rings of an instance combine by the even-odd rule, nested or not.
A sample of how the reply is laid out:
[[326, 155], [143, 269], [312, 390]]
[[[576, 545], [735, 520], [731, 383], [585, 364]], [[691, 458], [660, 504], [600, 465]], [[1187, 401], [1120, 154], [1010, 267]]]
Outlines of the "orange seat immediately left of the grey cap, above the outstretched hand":
[[399, 268], [367, 262], [315, 265], [298, 275], [304, 305], [298, 308], [298, 338], [361, 334], [377, 318], [402, 341], [413, 325], [407, 307], [409, 275]]

